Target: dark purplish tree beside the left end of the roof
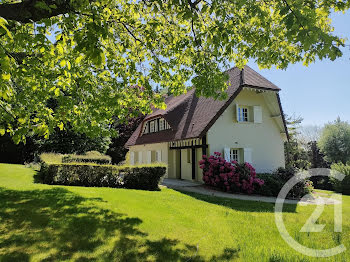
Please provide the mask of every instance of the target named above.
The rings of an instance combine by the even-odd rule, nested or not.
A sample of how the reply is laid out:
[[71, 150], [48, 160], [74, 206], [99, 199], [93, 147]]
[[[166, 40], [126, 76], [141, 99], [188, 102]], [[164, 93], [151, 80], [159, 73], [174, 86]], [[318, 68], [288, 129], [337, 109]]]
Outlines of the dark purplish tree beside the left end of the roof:
[[144, 116], [139, 115], [138, 117], [128, 119], [126, 123], [116, 124], [115, 128], [118, 130], [118, 137], [112, 138], [112, 142], [107, 150], [107, 155], [112, 157], [113, 164], [118, 164], [125, 160], [128, 150], [124, 145], [143, 119]]

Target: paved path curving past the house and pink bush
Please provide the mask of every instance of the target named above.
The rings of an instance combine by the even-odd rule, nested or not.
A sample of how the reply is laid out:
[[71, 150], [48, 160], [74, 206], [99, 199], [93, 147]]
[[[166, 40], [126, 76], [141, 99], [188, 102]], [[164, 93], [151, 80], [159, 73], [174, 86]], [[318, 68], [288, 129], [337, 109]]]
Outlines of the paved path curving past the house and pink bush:
[[[179, 190], [179, 191], [192, 192], [192, 193], [198, 193], [198, 194], [207, 195], [207, 196], [215, 196], [215, 197], [230, 198], [230, 199], [259, 201], [259, 202], [267, 202], [267, 203], [275, 203], [276, 199], [277, 199], [275, 197], [226, 193], [226, 192], [217, 191], [217, 190], [208, 188], [199, 182], [186, 181], [186, 180], [180, 180], [180, 179], [165, 178], [162, 182], [162, 185], [166, 186], [168, 188]], [[330, 199], [327, 197], [321, 197], [319, 195], [317, 195], [316, 198], [311, 198], [311, 199], [307, 199], [307, 200], [286, 199], [284, 201], [284, 203], [285, 204], [315, 205], [315, 204], [322, 202], [322, 200], [326, 205], [339, 204], [339, 201], [337, 201], [337, 200], [333, 200], [333, 199]]]

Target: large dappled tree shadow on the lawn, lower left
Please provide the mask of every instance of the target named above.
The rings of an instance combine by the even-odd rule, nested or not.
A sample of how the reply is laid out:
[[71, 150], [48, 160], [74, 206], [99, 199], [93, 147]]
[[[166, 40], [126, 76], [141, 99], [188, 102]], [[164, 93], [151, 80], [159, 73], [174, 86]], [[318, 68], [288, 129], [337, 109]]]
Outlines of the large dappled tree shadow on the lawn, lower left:
[[[100, 201], [63, 188], [0, 188], [0, 261], [205, 261], [195, 245], [148, 239], [141, 219], [100, 208]], [[227, 249], [211, 260], [237, 256]]]

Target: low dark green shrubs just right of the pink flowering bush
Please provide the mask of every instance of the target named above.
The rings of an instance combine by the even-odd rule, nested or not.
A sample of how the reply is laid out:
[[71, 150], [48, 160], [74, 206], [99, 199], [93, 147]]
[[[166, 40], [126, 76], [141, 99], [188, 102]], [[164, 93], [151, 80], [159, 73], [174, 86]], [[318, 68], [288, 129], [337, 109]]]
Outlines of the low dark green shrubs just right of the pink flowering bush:
[[[257, 177], [264, 180], [264, 184], [257, 190], [257, 194], [277, 197], [284, 184], [291, 179], [297, 169], [280, 167], [271, 174], [257, 174]], [[296, 184], [288, 193], [288, 198], [301, 198], [313, 191], [312, 182], [304, 180]]]

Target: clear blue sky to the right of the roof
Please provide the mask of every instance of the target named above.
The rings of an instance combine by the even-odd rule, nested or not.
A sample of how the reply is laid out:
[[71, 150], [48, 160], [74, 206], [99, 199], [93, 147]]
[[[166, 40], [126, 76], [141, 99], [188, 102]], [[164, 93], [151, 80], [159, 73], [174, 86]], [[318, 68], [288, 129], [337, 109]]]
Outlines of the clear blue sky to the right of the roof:
[[317, 61], [308, 67], [301, 63], [286, 70], [259, 70], [264, 77], [282, 89], [285, 113], [300, 115], [303, 125], [323, 125], [338, 116], [350, 122], [350, 12], [332, 15], [335, 34], [348, 38], [343, 56], [335, 61]]

